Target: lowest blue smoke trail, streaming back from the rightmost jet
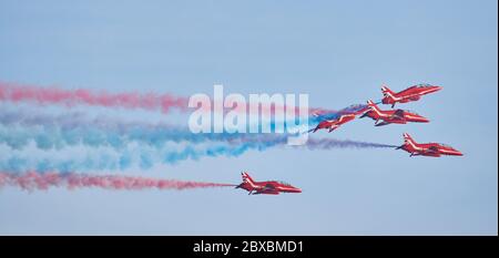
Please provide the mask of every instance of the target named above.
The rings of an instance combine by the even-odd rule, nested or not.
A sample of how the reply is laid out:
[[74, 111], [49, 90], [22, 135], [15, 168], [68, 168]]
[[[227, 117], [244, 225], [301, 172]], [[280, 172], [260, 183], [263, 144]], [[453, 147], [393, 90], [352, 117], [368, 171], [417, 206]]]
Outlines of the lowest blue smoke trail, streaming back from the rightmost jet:
[[[177, 164], [179, 162], [202, 157], [227, 156], [237, 157], [247, 151], [263, 152], [271, 147], [285, 147], [287, 137], [263, 135], [258, 141], [235, 141], [226, 143], [206, 142], [201, 145], [186, 143], [166, 144], [162, 148], [131, 144], [131, 146], [116, 151], [114, 148], [85, 148], [81, 146], [68, 147], [62, 151], [44, 151], [32, 146], [28, 151], [11, 149], [0, 145], [0, 171], [116, 171], [139, 166], [142, 169], [151, 168], [154, 164]], [[302, 149], [332, 149], [332, 148], [385, 148], [393, 145], [340, 141], [340, 140], [308, 140]]]

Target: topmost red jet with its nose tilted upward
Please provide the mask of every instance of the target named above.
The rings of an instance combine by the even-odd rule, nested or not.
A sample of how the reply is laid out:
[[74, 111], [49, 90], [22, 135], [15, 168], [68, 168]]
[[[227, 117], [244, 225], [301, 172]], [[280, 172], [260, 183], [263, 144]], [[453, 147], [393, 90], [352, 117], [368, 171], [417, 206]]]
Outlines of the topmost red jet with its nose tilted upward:
[[381, 86], [383, 92], [383, 104], [391, 104], [391, 109], [395, 106], [395, 103], [407, 103], [411, 101], [418, 101], [422, 95], [434, 93], [440, 91], [441, 86], [434, 86], [430, 84], [418, 84], [411, 87], [408, 87], [401, 92], [395, 93], [387, 86]]

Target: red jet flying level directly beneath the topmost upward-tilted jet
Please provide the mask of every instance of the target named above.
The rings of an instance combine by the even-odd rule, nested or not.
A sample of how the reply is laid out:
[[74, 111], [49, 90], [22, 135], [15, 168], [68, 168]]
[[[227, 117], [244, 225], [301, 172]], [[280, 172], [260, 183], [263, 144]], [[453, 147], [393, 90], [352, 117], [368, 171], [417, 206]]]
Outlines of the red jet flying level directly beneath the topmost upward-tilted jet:
[[[373, 120], [376, 120], [375, 126], [381, 126], [387, 124], [406, 124], [407, 122], [418, 122], [418, 123], [429, 122], [429, 120], [414, 112], [405, 110], [381, 111], [373, 101], [367, 101], [367, 105], [369, 106], [369, 110], [365, 112], [360, 116], [360, 118], [368, 116]], [[383, 122], [378, 124], [379, 120], [383, 120]]]

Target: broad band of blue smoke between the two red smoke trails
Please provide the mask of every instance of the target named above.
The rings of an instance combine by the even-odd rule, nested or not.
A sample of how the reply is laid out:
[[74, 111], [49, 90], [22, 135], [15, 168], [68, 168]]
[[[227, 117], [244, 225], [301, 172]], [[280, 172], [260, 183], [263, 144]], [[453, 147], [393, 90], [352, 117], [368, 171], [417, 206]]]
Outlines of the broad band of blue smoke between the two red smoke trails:
[[[149, 168], [203, 156], [240, 156], [249, 149], [264, 151], [287, 143], [286, 134], [192, 134], [167, 124], [89, 120], [79, 113], [53, 116], [0, 112], [0, 169], [17, 172], [125, 169], [134, 165]], [[182, 146], [172, 147], [172, 143]], [[338, 147], [394, 146], [338, 140], [309, 140], [302, 146]]]

